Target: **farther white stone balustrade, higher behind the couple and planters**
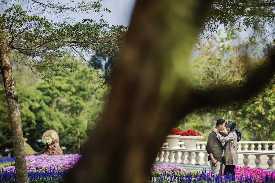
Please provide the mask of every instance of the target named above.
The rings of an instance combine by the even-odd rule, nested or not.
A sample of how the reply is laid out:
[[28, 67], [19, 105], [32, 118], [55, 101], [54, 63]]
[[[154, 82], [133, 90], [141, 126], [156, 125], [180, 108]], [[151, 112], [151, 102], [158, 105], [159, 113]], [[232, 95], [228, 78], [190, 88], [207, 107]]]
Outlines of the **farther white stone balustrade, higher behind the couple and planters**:
[[[182, 149], [185, 148], [184, 142], [180, 141], [178, 144]], [[206, 144], [206, 141], [199, 141], [197, 142], [196, 149], [206, 149]], [[271, 145], [271, 150], [268, 149], [269, 145]], [[168, 143], [163, 143], [163, 147], [168, 147]], [[239, 141], [237, 143], [238, 151], [262, 151], [262, 147], [264, 151], [275, 151], [275, 141]]]

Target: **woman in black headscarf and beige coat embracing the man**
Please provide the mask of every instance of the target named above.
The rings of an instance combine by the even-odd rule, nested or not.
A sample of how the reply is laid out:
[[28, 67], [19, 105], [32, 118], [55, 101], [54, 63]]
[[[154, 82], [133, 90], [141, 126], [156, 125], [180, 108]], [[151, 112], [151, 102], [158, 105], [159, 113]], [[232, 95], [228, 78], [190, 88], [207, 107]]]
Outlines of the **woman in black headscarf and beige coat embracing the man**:
[[217, 134], [218, 140], [222, 143], [225, 142], [223, 155], [224, 174], [232, 174], [232, 178], [235, 180], [235, 165], [238, 164], [237, 142], [241, 140], [242, 135], [236, 129], [235, 121], [226, 122], [226, 130], [227, 132], [220, 131], [218, 133], [216, 128], [212, 129]]

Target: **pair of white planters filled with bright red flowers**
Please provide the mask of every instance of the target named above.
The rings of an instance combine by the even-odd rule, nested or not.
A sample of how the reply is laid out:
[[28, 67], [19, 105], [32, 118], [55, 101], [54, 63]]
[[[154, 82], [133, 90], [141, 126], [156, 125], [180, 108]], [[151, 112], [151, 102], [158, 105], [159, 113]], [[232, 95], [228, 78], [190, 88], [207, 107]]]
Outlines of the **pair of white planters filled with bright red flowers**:
[[166, 140], [168, 142], [168, 148], [180, 148], [179, 141], [183, 141], [185, 148], [196, 149], [197, 142], [204, 137], [200, 135], [196, 130], [186, 130], [182, 132], [178, 129], [172, 129]]

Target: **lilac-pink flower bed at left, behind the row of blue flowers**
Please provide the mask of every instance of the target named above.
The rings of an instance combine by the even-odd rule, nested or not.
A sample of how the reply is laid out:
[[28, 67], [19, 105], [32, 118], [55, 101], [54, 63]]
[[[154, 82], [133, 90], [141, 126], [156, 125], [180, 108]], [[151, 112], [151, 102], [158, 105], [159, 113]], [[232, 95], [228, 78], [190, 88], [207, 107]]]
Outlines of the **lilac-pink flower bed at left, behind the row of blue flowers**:
[[[81, 155], [78, 154], [27, 156], [27, 170], [29, 172], [39, 170], [69, 170], [80, 158]], [[3, 167], [2, 170], [12, 172], [15, 170], [15, 166]]]

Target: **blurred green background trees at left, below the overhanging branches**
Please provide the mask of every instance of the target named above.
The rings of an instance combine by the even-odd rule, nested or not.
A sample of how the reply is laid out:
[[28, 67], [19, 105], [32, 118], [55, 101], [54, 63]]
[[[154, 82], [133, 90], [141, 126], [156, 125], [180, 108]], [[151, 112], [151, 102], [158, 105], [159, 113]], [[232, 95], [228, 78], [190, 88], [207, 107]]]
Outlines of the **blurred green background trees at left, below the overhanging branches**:
[[[74, 62], [78, 64], [74, 67], [76, 72], [90, 72], [90, 68], [82, 65], [81, 60]], [[89, 84], [81, 74], [68, 74], [56, 71], [53, 73], [52, 84], [46, 84], [26, 69], [13, 70], [23, 134], [36, 152], [45, 147], [41, 142], [42, 134], [53, 129], [59, 134], [60, 146], [67, 147], [64, 152], [77, 153], [79, 138], [81, 150], [87, 134], [99, 119], [106, 90], [98, 89], [94, 92], [98, 85]], [[12, 147], [4, 87], [0, 86], [0, 90], [3, 90], [0, 94], [3, 107], [0, 115], [0, 141], [3, 143], [0, 148]]]

